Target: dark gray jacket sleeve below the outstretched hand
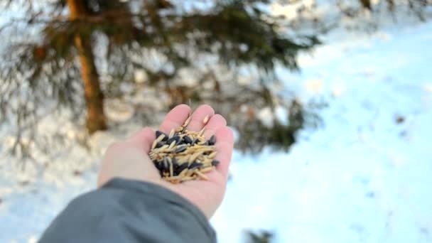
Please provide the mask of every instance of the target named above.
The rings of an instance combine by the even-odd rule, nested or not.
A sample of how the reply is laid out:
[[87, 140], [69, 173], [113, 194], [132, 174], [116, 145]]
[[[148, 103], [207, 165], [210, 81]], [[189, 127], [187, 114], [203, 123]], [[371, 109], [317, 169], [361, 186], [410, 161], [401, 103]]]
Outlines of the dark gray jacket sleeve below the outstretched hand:
[[40, 242], [216, 242], [197, 207], [166, 188], [113, 179], [72, 200]]

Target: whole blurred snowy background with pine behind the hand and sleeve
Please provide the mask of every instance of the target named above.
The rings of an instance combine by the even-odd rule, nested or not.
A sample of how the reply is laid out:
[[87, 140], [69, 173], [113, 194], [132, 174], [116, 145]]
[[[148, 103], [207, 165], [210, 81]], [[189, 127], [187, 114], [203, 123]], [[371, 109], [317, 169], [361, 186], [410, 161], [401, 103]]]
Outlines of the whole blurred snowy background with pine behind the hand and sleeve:
[[432, 1], [0, 0], [0, 242], [176, 104], [236, 134], [219, 242], [432, 242]]

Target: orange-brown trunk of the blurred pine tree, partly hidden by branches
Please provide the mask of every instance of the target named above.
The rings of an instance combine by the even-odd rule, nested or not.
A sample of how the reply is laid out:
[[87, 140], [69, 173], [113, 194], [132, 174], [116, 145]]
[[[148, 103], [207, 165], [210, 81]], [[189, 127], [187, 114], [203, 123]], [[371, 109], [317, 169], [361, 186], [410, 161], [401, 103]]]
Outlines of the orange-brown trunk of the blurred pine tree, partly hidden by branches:
[[[84, 0], [68, 0], [70, 19], [85, 17]], [[104, 95], [100, 89], [99, 75], [96, 70], [95, 56], [92, 52], [90, 33], [75, 36], [75, 47], [80, 55], [81, 78], [85, 91], [85, 102], [87, 105], [87, 131], [90, 134], [98, 130], [107, 129], [104, 113]]]

